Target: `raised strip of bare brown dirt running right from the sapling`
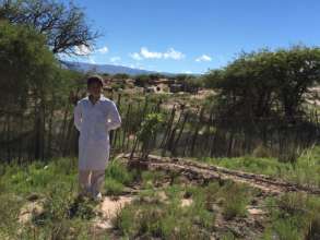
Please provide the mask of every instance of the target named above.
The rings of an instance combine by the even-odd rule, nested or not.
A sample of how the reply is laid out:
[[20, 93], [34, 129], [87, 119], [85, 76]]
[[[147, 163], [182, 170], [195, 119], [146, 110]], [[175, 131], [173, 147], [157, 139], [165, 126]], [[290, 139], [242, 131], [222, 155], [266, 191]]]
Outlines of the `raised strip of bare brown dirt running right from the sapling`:
[[[126, 160], [129, 159], [129, 155], [122, 155]], [[260, 189], [264, 193], [280, 194], [284, 192], [305, 192], [308, 194], [320, 195], [319, 188], [310, 188], [307, 185], [286, 182], [280, 179], [263, 175], [248, 173], [244, 171], [229, 170], [222, 167], [216, 167], [206, 164], [194, 163], [188, 159], [181, 158], [167, 158], [155, 155], [150, 155], [147, 160], [139, 159], [134, 157], [128, 161], [133, 167], [142, 167], [154, 170], [168, 170], [176, 171], [188, 178], [198, 178], [208, 180], [233, 180], [236, 182], [244, 182], [253, 188]]]

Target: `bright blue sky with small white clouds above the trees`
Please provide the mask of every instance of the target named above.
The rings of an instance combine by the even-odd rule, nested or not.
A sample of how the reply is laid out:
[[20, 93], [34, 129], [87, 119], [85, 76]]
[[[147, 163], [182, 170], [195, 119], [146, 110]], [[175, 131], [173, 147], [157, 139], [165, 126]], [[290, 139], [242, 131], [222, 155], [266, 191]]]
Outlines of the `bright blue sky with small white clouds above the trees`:
[[240, 51], [320, 45], [319, 0], [74, 2], [104, 36], [88, 57], [73, 60], [203, 73], [226, 65]]

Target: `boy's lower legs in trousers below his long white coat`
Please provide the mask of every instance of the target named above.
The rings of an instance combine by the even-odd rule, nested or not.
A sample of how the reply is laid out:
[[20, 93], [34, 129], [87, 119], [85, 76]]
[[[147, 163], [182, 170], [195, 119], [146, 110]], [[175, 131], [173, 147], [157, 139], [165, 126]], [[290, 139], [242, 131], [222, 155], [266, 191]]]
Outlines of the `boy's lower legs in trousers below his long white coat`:
[[105, 170], [79, 170], [79, 192], [96, 196], [103, 187]]

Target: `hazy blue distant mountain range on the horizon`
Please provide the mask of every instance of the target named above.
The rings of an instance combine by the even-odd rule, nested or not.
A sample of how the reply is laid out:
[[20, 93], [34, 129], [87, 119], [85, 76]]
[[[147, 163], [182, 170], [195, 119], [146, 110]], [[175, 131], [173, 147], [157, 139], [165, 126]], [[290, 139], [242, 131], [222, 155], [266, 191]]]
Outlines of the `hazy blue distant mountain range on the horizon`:
[[79, 71], [79, 72], [94, 72], [94, 73], [108, 73], [108, 74], [126, 73], [129, 75], [161, 73], [164, 75], [175, 75], [174, 73], [147, 71], [147, 70], [141, 70], [141, 69], [128, 68], [123, 65], [92, 64], [87, 62], [70, 62], [70, 61], [62, 61], [61, 63], [64, 68]]

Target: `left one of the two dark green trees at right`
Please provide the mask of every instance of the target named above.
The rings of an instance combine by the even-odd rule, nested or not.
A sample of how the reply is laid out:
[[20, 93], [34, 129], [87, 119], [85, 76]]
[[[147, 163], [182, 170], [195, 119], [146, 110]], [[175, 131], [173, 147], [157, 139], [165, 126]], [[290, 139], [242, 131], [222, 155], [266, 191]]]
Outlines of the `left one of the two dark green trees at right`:
[[214, 70], [208, 84], [221, 91], [225, 115], [263, 117], [271, 113], [276, 87], [270, 53], [242, 53], [223, 70]]

